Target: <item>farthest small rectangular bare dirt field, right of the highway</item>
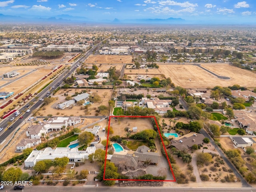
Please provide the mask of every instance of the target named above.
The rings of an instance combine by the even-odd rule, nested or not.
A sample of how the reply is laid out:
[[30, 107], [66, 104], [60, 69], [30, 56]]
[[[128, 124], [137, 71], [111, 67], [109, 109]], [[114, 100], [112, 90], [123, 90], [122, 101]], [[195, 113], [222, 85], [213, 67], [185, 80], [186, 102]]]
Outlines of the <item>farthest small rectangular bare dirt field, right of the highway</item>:
[[132, 56], [130, 55], [91, 55], [86, 61], [86, 64], [128, 64], [132, 62]]

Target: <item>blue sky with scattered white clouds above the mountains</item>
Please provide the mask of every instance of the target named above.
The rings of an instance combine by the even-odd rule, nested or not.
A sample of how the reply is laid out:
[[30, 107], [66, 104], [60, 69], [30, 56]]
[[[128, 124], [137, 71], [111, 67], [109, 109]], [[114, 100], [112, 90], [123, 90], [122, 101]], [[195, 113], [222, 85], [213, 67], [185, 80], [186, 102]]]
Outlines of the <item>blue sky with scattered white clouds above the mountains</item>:
[[172, 17], [209, 24], [256, 24], [256, 0], [0, 0], [0, 14], [68, 14], [95, 21]]

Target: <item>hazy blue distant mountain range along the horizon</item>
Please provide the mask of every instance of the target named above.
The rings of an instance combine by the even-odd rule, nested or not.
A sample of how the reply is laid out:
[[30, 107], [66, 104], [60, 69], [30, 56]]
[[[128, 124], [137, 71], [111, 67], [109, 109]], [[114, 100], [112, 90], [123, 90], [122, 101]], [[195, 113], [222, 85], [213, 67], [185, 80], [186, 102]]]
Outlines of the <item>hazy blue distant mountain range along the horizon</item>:
[[167, 18], [167, 19], [126, 19], [119, 20], [90, 20], [86, 17], [70, 16], [67, 14], [56, 15], [53, 17], [42, 16], [11, 16], [0, 14], [0, 24], [185, 24], [186, 20], [181, 18]]

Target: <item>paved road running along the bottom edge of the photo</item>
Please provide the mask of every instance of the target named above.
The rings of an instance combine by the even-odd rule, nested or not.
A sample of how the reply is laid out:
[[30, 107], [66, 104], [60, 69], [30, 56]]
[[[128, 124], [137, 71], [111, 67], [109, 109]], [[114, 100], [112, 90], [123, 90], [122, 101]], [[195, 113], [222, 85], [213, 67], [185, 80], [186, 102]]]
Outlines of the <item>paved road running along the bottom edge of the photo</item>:
[[[14, 191], [6, 186], [3, 191]], [[25, 186], [24, 192], [256, 192], [256, 188]]]

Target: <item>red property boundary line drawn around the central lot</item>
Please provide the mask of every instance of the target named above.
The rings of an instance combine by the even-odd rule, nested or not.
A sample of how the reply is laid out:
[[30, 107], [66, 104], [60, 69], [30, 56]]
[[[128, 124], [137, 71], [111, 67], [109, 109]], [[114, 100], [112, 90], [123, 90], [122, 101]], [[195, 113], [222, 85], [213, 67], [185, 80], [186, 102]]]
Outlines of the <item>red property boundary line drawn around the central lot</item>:
[[[108, 121], [108, 129], [110, 128], [110, 120], [111, 118], [154, 118], [155, 122], [156, 122], [156, 117], [155, 116], [109, 116], [109, 121]], [[108, 136], [107, 136], [107, 145], [106, 145], [106, 155], [105, 155], [105, 163], [104, 163], [104, 173], [103, 173], [103, 180], [118, 180], [118, 181], [169, 181], [169, 182], [176, 182], [176, 178], [174, 176], [174, 173], [173, 173], [173, 170], [172, 170], [172, 166], [171, 166], [171, 163], [170, 163], [170, 160], [168, 158], [168, 155], [167, 155], [167, 152], [166, 152], [166, 148], [164, 146], [164, 142], [163, 142], [163, 139], [162, 139], [162, 135], [160, 133], [160, 129], [158, 127], [158, 124], [156, 122], [156, 126], [157, 126], [157, 129], [158, 129], [158, 133], [160, 135], [160, 138], [161, 138], [161, 141], [162, 141], [162, 145], [164, 147], [164, 152], [166, 154], [166, 159], [168, 161], [168, 164], [170, 166], [170, 170], [172, 172], [172, 176], [174, 178], [174, 180], [139, 180], [139, 179], [106, 179], [105, 178], [105, 171], [106, 171], [106, 161], [107, 161], [107, 154], [108, 154], [108, 137], [109, 137], [109, 131], [108, 131]], [[160, 150], [160, 149], [158, 149]], [[169, 171], [169, 168], [168, 168], [168, 171]]]

